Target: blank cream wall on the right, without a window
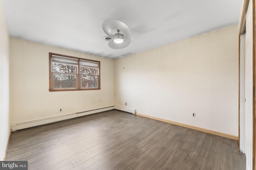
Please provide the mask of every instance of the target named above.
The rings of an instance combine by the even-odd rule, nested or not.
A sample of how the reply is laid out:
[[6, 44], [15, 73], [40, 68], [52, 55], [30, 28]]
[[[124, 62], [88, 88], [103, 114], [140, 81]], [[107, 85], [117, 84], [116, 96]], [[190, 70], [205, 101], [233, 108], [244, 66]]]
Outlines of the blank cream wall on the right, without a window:
[[233, 25], [116, 59], [116, 105], [238, 136], [237, 32]]

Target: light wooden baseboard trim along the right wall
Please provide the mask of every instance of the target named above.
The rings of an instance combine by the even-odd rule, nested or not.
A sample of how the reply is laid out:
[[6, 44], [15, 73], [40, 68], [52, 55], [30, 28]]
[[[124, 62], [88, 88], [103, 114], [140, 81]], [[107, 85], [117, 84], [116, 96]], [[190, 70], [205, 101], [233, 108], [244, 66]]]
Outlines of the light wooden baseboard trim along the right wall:
[[202, 131], [202, 132], [206, 132], [206, 133], [210, 133], [210, 134], [213, 134], [213, 135], [218, 135], [218, 136], [221, 136], [221, 137], [226, 137], [226, 138], [234, 139], [234, 140], [238, 141], [238, 136], [229, 135], [229, 134], [221, 133], [221, 132], [217, 132], [217, 131], [212, 131], [212, 130], [209, 130], [209, 129], [204, 129], [204, 128], [196, 127], [196, 126], [192, 126], [192, 125], [187, 125], [187, 124], [184, 124], [184, 123], [178, 123], [176, 121], [170, 121], [170, 120], [162, 119], [162, 118], [159, 118], [159, 117], [144, 115], [142, 113], [136, 113], [136, 115], [143, 116], [143, 117], [148, 117], [150, 119], [155, 119], [155, 120], [163, 121], [163, 122], [166, 122], [166, 123], [171, 123], [171, 124], [174, 124], [174, 125], [187, 127], [187, 128], [194, 129], [194, 130], [197, 130], [197, 131]]

